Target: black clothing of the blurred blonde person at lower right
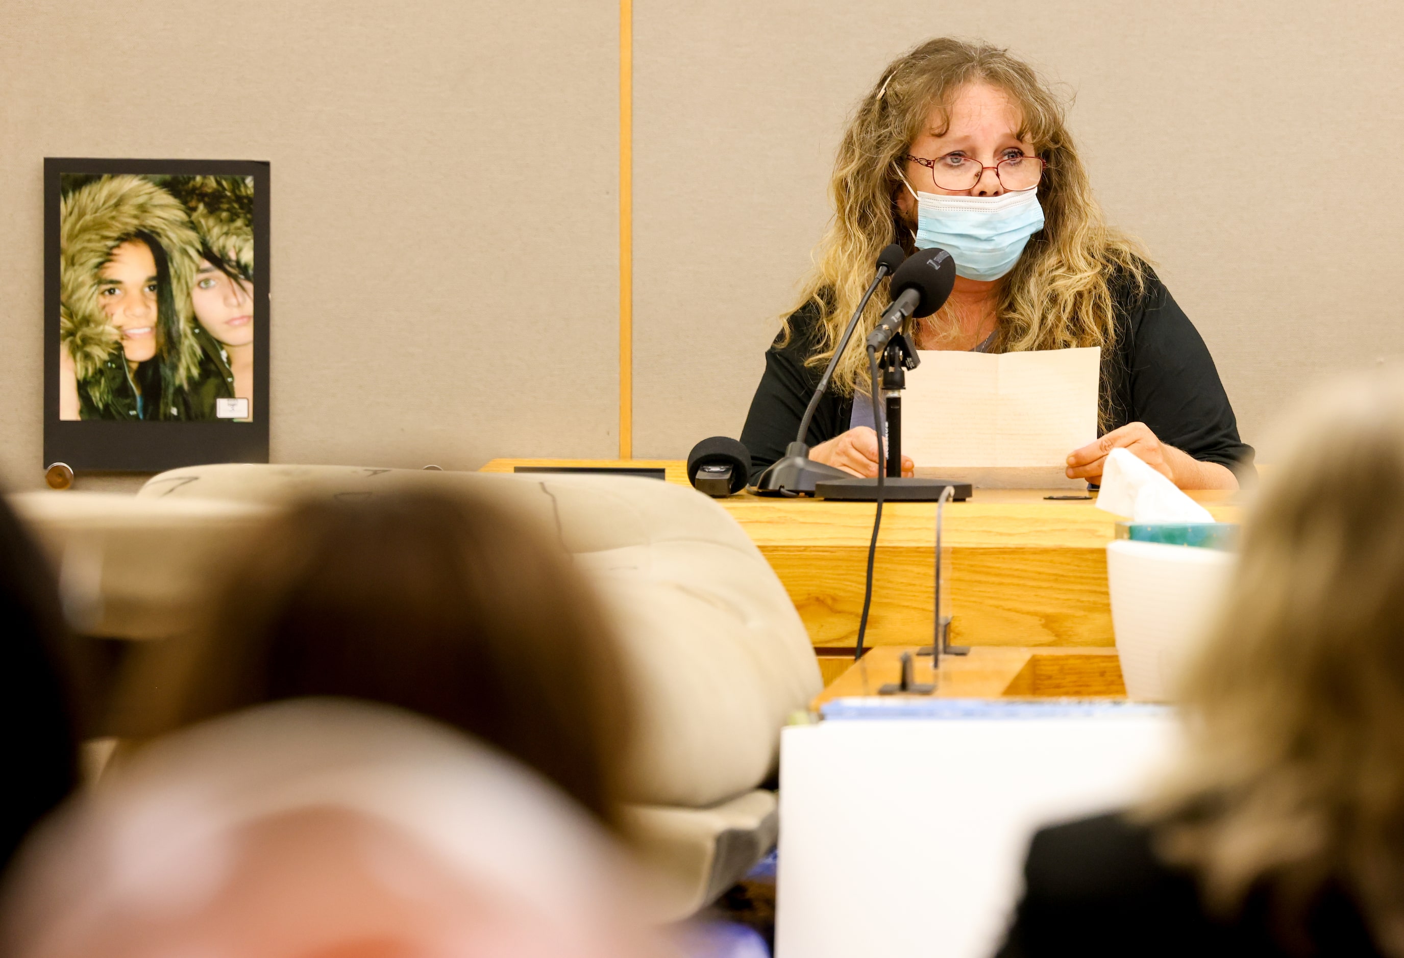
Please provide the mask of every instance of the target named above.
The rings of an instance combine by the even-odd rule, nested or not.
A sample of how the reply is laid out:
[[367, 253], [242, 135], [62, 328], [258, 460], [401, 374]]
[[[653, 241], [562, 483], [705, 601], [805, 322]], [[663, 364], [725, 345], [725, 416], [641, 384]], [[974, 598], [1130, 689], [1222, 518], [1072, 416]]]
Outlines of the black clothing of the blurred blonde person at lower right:
[[1200, 906], [1195, 879], [1155, 857], [1148, 829], [1118, 815], [1046, 828], [1033, 836], [1024, 865], [1024, 898], [998, 958], [1040, 955], [1293, 954], [1376, 958], [1380, 952], [1355, 903], [1337, 886], [1317, 896], [1300, 922], [1293, 951], [1272, 923], [1261, 891], [1240, 915], [1220, 922]]

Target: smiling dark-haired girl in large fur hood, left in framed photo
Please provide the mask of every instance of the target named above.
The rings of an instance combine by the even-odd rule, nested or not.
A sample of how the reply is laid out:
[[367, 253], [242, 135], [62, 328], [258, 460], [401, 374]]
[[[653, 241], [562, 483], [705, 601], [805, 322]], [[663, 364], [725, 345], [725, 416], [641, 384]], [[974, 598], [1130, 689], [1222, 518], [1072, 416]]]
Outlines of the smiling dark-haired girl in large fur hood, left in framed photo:
[[102, 177], [63, 198], [60, 418], [213, 418], [190, 401], [198, 250], [185, 208], [143, 177]]

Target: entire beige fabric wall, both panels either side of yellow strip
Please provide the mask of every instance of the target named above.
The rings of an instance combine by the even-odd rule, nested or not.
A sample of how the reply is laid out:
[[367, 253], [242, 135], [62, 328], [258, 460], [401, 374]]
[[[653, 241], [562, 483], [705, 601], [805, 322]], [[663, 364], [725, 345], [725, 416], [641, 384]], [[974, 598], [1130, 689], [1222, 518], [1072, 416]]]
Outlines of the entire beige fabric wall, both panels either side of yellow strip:
[[[73, 154], [272, 163], [275, 461], [612, 456], [618, 15], [7, 4], [0, 478], [39, 481], [42, 157]], [[1111, 219], [1150, 245], [1261, 442], [1304, 382], [1404, 352], [1401, 28], [1383, 3], [637, 0], [636, 454], [740, 432], [844, 118], [938, 32], [1075, 94]], [[570, 254], [543, 261], [553, 244]], [[542, 309], [515, 307], [528, 286]]]

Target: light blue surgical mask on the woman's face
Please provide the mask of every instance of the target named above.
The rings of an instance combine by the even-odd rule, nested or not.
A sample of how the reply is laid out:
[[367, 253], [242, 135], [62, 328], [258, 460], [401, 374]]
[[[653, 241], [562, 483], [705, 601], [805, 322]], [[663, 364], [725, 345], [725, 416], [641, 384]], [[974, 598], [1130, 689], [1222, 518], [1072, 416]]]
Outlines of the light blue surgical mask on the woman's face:
[[1029, 237], [1043, 229], [1038, 189], [998, 196], [918, 194], [917, 248], [941, 247], [956, 261], [956, 275], [998, 279], [1014, 269]]

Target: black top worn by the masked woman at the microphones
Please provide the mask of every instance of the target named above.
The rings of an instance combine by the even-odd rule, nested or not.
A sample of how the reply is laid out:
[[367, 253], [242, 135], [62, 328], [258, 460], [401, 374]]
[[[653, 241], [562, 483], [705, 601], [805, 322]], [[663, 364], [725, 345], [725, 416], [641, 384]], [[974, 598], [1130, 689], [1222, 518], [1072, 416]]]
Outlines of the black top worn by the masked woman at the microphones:
[[[1102, 356], [1102, 410], [1109, 429], [1144, 422], [1161, 442], [1198, 460], [1251, 473], [1252, 447], [1238, 438], [1233, 407], [1205, 341], [1160, 278], [1147, 269], [1146, 279], [1144, 292], [1126, 281], [1112, 283], [1116, 345]], [[824, 372], [823, 366], [804, 365], [817, 349], [819, 307], [806, 304], [789, 325], [789, 344], [782, 346], [776, 337], [765, 352], [765, 373], [741, 431], [753, 480], [795, 440]], [[847, 432], [852, 408], [851, 396], [830, 387], [814, 410], [806, 442], [817, 446]]]

